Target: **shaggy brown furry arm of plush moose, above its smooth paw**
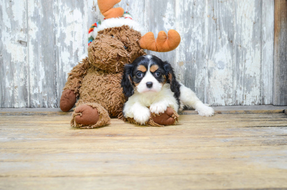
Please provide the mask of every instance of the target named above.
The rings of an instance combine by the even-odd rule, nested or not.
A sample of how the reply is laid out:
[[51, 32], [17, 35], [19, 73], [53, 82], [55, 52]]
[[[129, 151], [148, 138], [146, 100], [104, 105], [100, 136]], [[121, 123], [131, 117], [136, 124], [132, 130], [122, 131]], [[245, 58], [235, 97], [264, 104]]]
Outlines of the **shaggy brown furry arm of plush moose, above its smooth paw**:
[[66, 82], [66, 85], [63, 88], [63, 90], [66, 89], [72, 90], [78, 97], [81, 82], [83, 80], [83, 77], [87, 74], [89, 66], [90, 63], [88, 61], [88, 57], [83, 59], [83, 61], [78, 65], [74, 66], [72, 71], [68, 73], [68, 81]]

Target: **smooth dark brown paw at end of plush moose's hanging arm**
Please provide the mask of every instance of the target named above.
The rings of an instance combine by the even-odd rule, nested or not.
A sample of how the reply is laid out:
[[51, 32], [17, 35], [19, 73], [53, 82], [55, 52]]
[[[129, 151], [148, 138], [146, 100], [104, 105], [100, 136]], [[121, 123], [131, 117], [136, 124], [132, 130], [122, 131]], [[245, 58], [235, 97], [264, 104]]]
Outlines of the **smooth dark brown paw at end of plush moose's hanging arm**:
[[66, 89], [63, 91], [60, 99], [60, 108], [63, 112], [69, 112], [74, 107], [77, 96], [73, 90]]

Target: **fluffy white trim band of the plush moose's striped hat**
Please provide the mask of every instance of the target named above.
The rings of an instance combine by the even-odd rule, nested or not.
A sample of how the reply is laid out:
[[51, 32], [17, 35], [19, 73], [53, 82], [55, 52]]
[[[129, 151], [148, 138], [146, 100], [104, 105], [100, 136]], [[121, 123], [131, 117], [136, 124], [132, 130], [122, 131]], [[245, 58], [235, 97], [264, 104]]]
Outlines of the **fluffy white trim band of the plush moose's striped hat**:
[[129, 19], [129, 18], [109, 18], [104, 21], [98, 26], [94, 28], [93, 32], [90, 32], [89, 37], [93, 36], [93, 38], [96, 38], [98, 35], [98, 32], [107, 28], [114, 28], [114, 27], [121, 27], [123, 25], [127, 25], [130, 28], [141, 32], [141, 34], [145, 34], [143, 27], [136, 22], [135, 20]]

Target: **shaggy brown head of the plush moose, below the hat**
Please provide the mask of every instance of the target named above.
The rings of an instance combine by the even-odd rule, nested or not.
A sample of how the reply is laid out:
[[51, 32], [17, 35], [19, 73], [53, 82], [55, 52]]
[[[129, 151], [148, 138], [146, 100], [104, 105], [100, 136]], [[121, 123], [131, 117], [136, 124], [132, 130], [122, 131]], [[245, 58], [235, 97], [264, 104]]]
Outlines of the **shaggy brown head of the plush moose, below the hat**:
[[[140, 38], [141, 33], [130, 29], [129, 26], [102, 30], [88, 48], [89, 62], [109, 73], [123, 71], [126, 63], [132, 63], [137, 57], [145, 54], [138, 43]], [[124, 49], [124, 46], [127, 49]]]

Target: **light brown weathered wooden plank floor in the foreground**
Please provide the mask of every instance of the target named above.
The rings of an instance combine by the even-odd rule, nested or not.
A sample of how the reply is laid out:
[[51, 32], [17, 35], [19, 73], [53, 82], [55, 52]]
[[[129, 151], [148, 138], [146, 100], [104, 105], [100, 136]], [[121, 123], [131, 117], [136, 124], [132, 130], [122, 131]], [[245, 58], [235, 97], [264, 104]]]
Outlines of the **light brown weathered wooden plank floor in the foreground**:
[[287, 189], [283, 110], [86, 130], [70, 113], [17, 113], [0, 112], [1, 190]]

